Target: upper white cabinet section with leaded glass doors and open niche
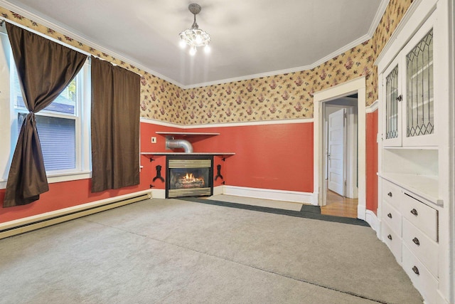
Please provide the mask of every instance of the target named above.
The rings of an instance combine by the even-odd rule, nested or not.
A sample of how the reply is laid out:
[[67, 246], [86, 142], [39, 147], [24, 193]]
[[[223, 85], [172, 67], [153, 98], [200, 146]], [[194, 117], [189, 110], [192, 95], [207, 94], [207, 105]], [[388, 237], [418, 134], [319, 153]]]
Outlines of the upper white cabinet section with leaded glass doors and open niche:
[[433, 13], [380, 73], [381, 174], [439, 204], [435, 20]]

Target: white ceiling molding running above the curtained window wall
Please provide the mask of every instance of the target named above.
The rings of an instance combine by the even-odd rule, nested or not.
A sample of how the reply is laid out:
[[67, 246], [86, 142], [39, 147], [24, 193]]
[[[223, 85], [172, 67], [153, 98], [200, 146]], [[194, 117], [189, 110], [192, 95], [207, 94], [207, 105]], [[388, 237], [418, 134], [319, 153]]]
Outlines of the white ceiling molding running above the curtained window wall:
[[[15, 4], [11, 4], [8, 1], [5, 0], [0, 0], [0, 6], [3, 6], [5, 9], [9, 9], [10, 11], [14, 11], [16, 14], [20, 14], [21, 16], [26, 17], [27, 19], [31, 19], [32, 21], [35, 21], [36, 23], [41, 24], [42, 26], [46, 26], [48, 28], [52, 28], [54, 31], [57, 31], [58, 33], [62, 33], [65, 36], [71, 37], [75, 39], [76, 41], [85, 44], [86, 46], [90, 46], [91, 48], [95, 48], [95, 50], [100, 51], [102, 53], [107, 53], [109, 56], [112, 56], [114, 58], [117, 58], [121, 61], [124, 61], [126, 63], [129, 63], [131, 65], [134, 65], [135, 67], [144, 70], [144, 72], [149, 73], [151, 75], [154, 75], [158, 78], [161, 78], [163, 80], [166, 80], [168, 83], [172, 83], [173, 85], [177, 85], [179, 88], [183, 88], [184, 85], [181, 83], [178, 83], [176, 80], [173, 80], [171, 78], [166, 77], [165, 75], [161, 75], [160, 73], [150, 70], [149, 68], [146, 68], [144, 65], [141, 65], [140, 63], [135, 62], [134, 60], [127, 58], [126, 56], [123, 56], [119, 53], [115, 53], [114, 51], [110, 51], [107, 48], [104, 48], [97, 43], [90, 41], [89, 38], [86, 38], [82, 34], [77, 34], [75, 33], [75, 30], [71, 28], [71, 30], [68, 30], [67, 28], [64, 28], [63, 26], [60, 26], [58, 23], [51, 22], [47, 19], [44, 19], [41, 16], [38, 16], [35, 13], [32, 13], [31, 11], [28, 11], [26, 9], [22, 9], [19, 6], [16, 6]], [[14, 21], [14, 20], [13, 20]], [[33, 29], [33, 28], [31, 28]], [[46, 36], [48, 37], [48, 36]], [[50, 37], [49, 37], [50, 38]], [[67, 43], [63, 43], [63, 41], [58, 41], [57, 39], [52, 39], [53, 41], [57, 41], [58, 43], [65, 44], [65, 46], [68, 46]], [[73, 47], [74, 48], [74, 47]], [[86, 52], [84, 52], [86, 53]]]

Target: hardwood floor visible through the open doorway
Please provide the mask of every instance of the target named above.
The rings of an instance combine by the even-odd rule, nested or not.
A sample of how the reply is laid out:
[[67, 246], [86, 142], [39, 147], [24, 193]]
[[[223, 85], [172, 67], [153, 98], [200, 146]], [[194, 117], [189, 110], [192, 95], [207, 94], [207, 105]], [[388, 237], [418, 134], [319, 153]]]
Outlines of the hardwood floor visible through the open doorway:
[[347, 197], [328, 190], [326, 206], [321, 206], [321, 214], [344, 216], [356, 219], [357, 205], [358, 199], [348, 199]]

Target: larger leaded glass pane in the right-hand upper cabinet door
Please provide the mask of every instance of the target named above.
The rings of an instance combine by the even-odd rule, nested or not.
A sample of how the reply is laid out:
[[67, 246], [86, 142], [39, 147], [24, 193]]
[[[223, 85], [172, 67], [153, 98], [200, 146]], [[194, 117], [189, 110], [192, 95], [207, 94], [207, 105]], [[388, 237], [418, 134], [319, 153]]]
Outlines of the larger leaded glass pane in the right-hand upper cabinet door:
[[433, 110], [433, 30], [406, 56], [407, 95], [406, 136], [432, 134]]

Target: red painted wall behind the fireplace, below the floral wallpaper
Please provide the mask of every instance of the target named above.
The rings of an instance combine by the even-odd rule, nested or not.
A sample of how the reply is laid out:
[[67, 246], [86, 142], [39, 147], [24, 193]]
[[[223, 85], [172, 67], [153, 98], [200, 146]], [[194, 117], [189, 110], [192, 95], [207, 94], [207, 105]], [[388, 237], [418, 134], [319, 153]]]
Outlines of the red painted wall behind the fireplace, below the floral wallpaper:
[[[184, 137], [193, 145], [194, 152], [234, 152], [235, 155], [215, 157], [214, 165], [221, 164], [226, 185], [259, 189], [278, 189], [313, 192], [313, 123], [282, 123], [277, 125], [242, 125], [176, 130], [171, 127], [148, 124], [142, 127], [141, 151], [166, 152], [165, 137], [156, 131], [210, 132], [217, 136]], [[151, 137], [157, 143], [151, 144]], [[183, 138], [178, 137], [176, 138]], [[144, 172], [156, 175], [156, 165], [164, 167], [166, 157], [141, 157]], [[164, 172], [161, 172], [164, 176]], [[216, 175], [216, 170], [214, 177]], [[221, 180], [215, 181], [215, 186]], [[164, 189], [156, 180], [154, 189]]]

